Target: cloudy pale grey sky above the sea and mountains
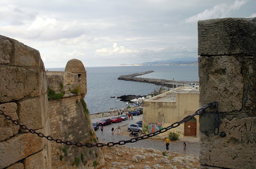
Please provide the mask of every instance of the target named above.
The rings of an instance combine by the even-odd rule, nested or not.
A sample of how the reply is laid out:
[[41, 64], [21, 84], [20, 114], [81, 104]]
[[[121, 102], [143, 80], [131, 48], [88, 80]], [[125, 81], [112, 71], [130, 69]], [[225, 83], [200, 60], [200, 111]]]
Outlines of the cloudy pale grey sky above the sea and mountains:
[[256, 17], [256, 0], [1, 0], [0, 34], [46, 68], [197, 57], [197, 21]]

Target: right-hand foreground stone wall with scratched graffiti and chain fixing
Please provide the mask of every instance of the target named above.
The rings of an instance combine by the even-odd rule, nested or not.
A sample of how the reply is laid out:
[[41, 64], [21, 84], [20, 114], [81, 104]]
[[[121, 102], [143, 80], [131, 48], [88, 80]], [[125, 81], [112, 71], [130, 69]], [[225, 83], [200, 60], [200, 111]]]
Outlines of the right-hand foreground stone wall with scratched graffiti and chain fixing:
[[200, 115], [201, 168], [256, 166], [256, 18], [198, 22], [200, 107], [218, 102], [220, 133], [213, 134], [214, 109]]

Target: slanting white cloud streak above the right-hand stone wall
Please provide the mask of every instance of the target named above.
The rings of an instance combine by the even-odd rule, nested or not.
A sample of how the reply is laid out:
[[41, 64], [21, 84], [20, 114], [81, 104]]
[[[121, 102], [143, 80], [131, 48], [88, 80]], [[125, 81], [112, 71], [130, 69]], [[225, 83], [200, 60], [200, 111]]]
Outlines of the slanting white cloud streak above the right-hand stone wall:
[[211, 18], [225, 18], [229, 17], [231, 12], [238, 10], [248, 0], [236, 0], [234, 4], [220, 4], [214, 6], [212, 9], [206, 9], [203, 12], [185, 19], [185, 23], [197, 22], [198, 20], [205, 20]]

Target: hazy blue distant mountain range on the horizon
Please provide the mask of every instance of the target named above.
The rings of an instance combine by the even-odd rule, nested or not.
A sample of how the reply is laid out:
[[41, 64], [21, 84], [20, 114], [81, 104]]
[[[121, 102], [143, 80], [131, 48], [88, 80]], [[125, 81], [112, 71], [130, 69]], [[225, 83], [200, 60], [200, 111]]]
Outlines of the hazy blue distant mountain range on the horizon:
[[194, 57], [186, 57], [186, 58], [175, 58], [169, 60], [156, 60], [154, 62], [144, 62], [144, 63], [136, 63], [136, 64], [121, 64], [117, 66], [140, 66], [140, 65], [198, 65], [197, 58]]

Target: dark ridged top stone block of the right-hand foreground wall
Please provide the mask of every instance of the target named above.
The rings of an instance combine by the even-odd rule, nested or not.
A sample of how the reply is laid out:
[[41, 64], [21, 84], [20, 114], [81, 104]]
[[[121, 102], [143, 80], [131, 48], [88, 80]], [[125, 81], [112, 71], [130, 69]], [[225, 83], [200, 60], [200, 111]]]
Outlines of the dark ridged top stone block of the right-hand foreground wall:
[[256, 56], [255, 32], [256, 18], [198, 21], [198, 55]]

